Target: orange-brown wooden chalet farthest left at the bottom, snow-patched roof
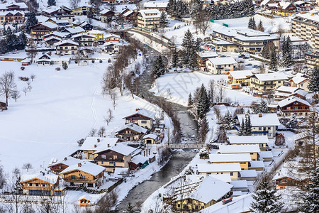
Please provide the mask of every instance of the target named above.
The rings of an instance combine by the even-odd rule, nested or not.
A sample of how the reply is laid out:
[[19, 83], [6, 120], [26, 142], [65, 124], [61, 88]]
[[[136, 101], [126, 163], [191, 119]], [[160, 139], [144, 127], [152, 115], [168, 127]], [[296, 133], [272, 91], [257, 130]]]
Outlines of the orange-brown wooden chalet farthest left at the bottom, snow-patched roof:
[[48, 172], [22, 175], [23, 194], [41, 196], [62, 196], [65, 187], [59, 175]]

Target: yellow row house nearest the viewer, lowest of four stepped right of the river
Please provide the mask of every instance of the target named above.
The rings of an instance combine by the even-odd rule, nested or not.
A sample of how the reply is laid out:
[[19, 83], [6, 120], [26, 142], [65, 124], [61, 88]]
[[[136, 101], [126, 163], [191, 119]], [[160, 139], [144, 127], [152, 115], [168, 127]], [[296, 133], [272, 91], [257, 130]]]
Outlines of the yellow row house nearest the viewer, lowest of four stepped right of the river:
[[240, 163], [198, 163], [197, 168], [201, 175], [229, 174], [231, 180], [238, 180], [242, 170]]

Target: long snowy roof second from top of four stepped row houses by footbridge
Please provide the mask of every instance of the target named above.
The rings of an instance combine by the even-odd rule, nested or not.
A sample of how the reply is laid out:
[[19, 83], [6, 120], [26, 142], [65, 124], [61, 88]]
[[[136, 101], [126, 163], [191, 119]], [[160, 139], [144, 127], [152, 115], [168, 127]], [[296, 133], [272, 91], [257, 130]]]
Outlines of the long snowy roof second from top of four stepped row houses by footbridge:
[[257, 144], [254, 145], [220, 145], [219, 153], [259, 153], [260, 148]]

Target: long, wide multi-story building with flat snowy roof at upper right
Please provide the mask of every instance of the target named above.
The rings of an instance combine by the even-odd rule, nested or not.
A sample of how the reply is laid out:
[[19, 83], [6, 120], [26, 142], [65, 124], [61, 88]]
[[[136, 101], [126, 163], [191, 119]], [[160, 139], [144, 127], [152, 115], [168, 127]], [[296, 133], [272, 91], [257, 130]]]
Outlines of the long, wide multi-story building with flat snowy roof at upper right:
[[275, 35], [252, 29], [223, 27], [213, 30], [213, 34], [237, 45], [237, 48], [244, 51], [260, 52], [267, 42], [274, 42], [276, 47], [279, 46], [279, 38]]

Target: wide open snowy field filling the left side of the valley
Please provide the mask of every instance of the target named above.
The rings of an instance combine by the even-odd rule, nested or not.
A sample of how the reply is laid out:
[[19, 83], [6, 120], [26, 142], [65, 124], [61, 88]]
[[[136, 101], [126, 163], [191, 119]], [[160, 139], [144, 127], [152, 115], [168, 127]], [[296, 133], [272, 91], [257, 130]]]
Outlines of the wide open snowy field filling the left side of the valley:
[[[67, 70], [56, 71], [55, 66], [30, 65], [20, 70], [21, 62], [0, 62], [0, 75], [12, 70], [21, 98], [9, 100], [9, 109], [0, 112], [0, 164], [7, 172], [31, 163], [33, 168], [47, 166], [51, 158], [62, 158], [77, 151], [77, 140], [85, 138], [91, 128], [106, 127], [111, 135], [124, 124], [123, 116], [136, 108], [152, 109], [142, 99], [130, 94], [118, 94], [116, 110], [109, 96], [102, 97], [101, 78], [107, 62], [79, 67], [74, 62]], [[26, 82], [18, 77], [36, 75], [31, 92], [26, 95]], [[4, 97], [0, 101], [4, 102]], [[103, 121], [108, 109], [115, 119], [106, 126]], [[4, 146], [5, 145], [5, 146]]]

